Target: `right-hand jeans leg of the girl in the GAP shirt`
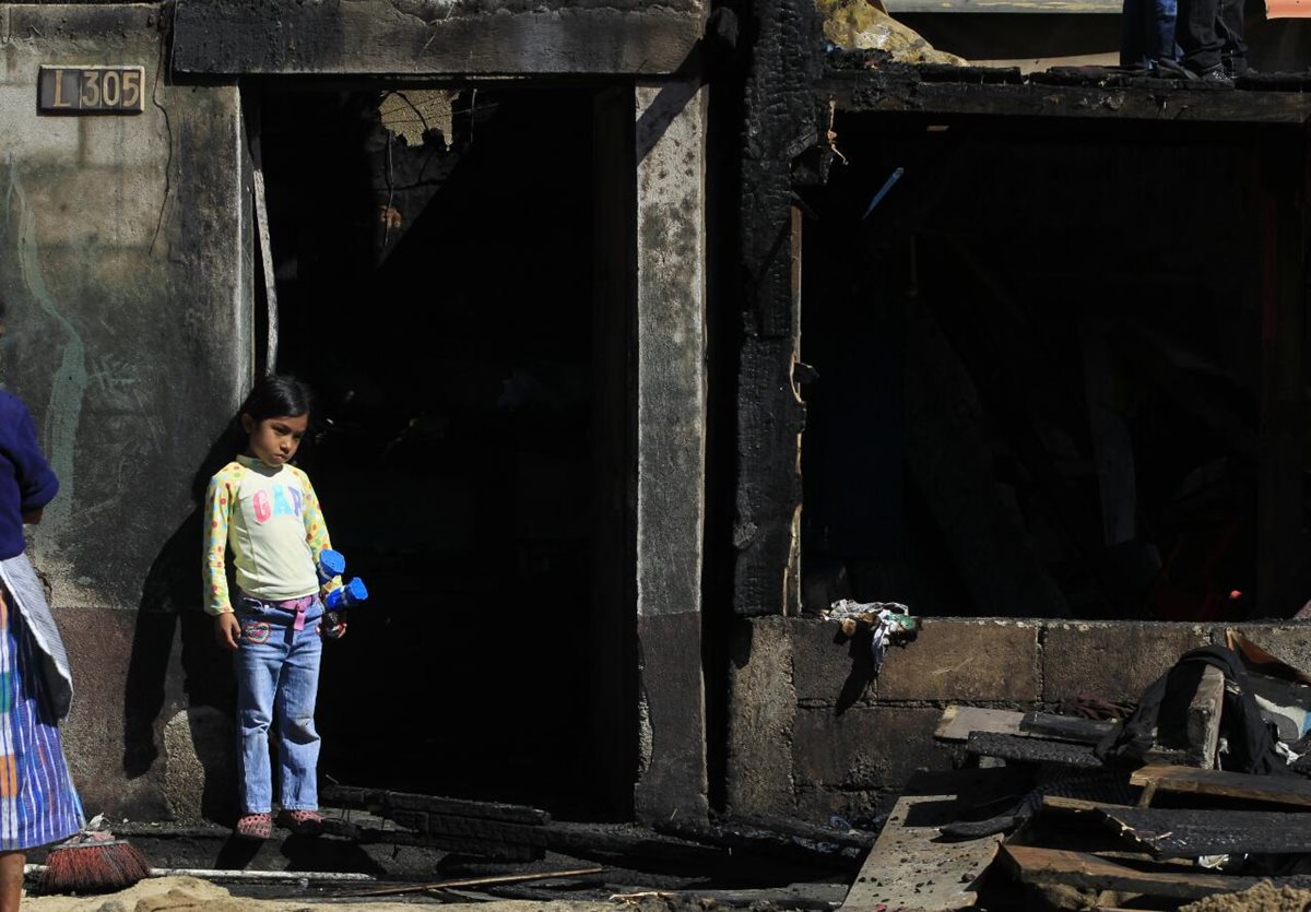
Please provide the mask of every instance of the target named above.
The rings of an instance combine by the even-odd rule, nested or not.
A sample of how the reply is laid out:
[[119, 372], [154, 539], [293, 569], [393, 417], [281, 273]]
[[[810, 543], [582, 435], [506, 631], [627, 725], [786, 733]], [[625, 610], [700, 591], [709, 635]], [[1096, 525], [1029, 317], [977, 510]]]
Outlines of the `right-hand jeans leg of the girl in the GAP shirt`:
[[317, 622], [294, 630], [295, 639], [278, 680], [278, 774], [282, 807], [313, 811], [319, 807], [319, 732], [315, 702], [319, 697], [319, 660], [323, 638]]

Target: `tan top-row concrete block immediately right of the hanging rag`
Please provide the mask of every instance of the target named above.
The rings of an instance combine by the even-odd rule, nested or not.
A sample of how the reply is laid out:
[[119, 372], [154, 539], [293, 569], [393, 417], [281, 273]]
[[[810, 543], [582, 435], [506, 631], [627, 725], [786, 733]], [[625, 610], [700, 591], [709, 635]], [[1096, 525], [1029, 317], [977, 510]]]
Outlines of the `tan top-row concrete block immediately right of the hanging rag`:
[[878, 700], [1036, 701], [1038, 630], [1033, 621], [926, 620], [905, 649], [888, 650]]

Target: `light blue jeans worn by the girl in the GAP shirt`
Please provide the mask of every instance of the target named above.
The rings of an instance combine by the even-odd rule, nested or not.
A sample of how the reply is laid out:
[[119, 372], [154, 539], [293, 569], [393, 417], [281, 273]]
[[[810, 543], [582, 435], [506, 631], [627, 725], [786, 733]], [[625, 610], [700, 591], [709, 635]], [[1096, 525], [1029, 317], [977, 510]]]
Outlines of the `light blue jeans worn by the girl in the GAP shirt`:
[[245, 814], [273, 810], [269, 726], [277, 722], [278, 780], [284, 810], [319, 807], [315, 697], [323, 603], [315, 596], [296, 630], [295, 612], [249, 596], [237, 600], [237, 776]]

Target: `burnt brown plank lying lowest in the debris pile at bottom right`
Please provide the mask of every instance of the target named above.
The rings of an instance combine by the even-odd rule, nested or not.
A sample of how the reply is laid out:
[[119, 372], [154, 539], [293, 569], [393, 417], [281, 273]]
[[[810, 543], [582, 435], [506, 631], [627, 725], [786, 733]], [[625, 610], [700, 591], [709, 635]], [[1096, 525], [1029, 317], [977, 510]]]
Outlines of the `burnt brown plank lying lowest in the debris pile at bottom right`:
[[1201, 899], [1218, 892], [1238, 892], [1266, 879], [1273, 879], [1280, 886], [1301, 886], [1311, 882], [1311, 878], [1198, 874], [1177, 865], [1130, 866], [1086, 852], [1044, 849], [1033, 845], [1003, 845], [998, 856], [1023, 883], [1124, 890], [1175, 899]]

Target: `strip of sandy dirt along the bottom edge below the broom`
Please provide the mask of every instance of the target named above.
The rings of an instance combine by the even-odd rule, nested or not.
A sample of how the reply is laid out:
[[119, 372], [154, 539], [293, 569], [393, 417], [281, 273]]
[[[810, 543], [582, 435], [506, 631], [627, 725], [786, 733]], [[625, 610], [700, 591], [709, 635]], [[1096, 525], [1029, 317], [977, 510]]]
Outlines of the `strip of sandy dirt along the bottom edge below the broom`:
[[[337, 900], [320, 903], [305, 899], [246, 899], [233, 896], [225, 888], [191, 877], [164, 877], [142, 881], [134, 887], [100, 896], [30, 896], [22, 900], [24, 912], [320, 912], [332, 909], [368, 909], [368, 912], [416, 912], [420, 903]], [[619, 903], [536, 903], [524, 900], [496, 900], [486, 903], [443, 903], [443, 912], [472, 909], [479, 912], [616, 912], [631, 908]]]

